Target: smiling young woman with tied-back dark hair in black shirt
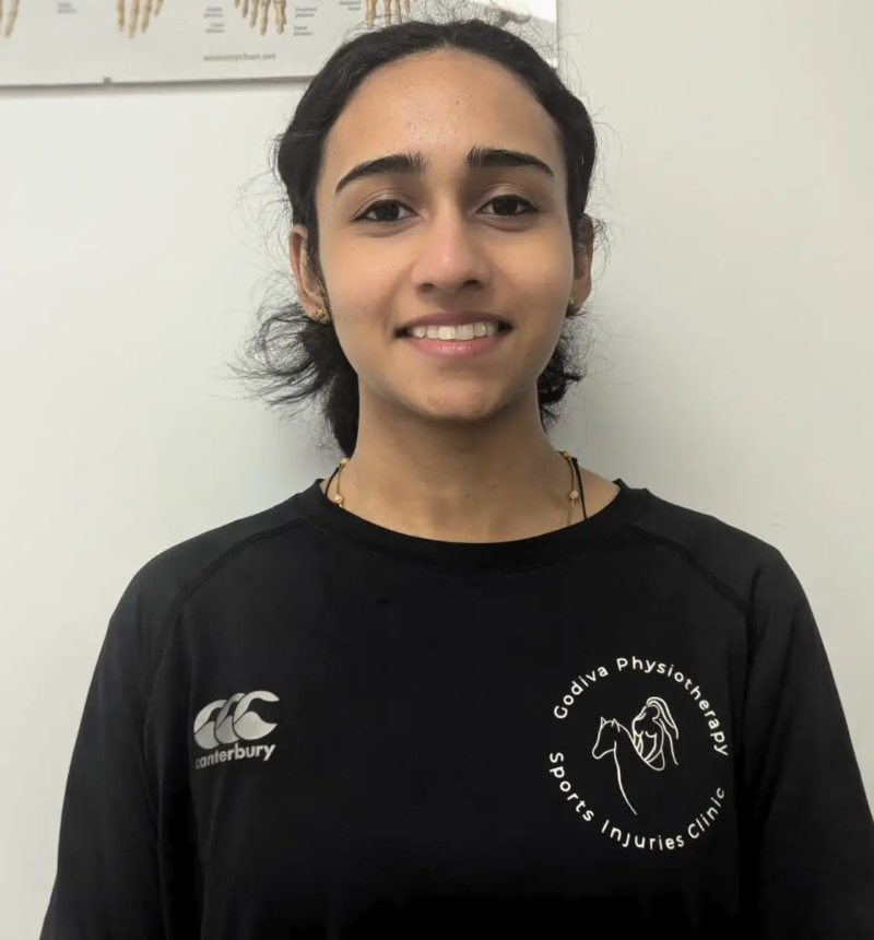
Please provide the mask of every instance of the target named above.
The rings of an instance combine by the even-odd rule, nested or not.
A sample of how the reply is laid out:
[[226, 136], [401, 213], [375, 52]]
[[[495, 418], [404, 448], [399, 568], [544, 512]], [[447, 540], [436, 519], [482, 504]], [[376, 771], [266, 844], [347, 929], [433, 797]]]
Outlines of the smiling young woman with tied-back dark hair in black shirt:
[[787, 562], [546, 436], [594, 165], [583, 105], [485, 23], [314, 80], [277, 151], [299, 304], [253, 349], [345, 457], [133, 577], [44, 940], [874, 937]]

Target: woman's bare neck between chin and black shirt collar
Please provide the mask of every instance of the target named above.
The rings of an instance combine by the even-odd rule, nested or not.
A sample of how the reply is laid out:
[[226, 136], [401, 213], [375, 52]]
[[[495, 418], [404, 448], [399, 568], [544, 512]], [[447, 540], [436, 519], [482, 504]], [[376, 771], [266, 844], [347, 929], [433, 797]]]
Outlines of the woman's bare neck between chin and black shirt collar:
[[546, 437], [536, 401], [462, 425], [375, 414], [363, 397], [355, 454], [341, 478], [349, 512], [450, 542], [510, 541], [562, 528], [571, 489], [576, 480]]

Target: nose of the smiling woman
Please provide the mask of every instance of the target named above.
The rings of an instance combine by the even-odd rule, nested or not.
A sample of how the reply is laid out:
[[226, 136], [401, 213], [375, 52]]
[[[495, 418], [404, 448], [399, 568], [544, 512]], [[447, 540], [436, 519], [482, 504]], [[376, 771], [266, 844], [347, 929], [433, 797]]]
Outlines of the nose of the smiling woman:
[[457, 205], [436, 210], [420, 232], [413, 249], [416, 289], [453, 294], [464, 286], [488, 283], [492, 263], [484, 244], [486, 231], [477, 231], [477, 223], [463, 210]]

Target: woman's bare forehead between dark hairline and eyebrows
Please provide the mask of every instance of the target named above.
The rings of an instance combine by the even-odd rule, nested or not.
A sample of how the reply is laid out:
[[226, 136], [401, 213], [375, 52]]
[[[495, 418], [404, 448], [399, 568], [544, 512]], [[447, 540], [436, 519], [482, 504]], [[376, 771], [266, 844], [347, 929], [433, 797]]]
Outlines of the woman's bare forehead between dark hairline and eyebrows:
[[322, 180], [330, 186], [358, 161], [399, 151], [461, 165], [472, 146], [527, 151], [562, 173], [552, 117], [521, 79], [470, 52], [410, 57], [374, 72], [350, 98], [328, 139]]

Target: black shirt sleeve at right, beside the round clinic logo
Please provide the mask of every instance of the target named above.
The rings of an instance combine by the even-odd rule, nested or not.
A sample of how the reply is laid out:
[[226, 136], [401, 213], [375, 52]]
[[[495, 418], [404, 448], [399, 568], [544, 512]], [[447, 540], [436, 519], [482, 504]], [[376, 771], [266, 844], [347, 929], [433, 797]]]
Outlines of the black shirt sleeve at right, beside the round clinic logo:
[[741, 786], [757, 936], [874, 938], [874, 823], [819, 630], [782, 555], [753, 597]]

